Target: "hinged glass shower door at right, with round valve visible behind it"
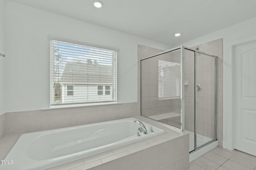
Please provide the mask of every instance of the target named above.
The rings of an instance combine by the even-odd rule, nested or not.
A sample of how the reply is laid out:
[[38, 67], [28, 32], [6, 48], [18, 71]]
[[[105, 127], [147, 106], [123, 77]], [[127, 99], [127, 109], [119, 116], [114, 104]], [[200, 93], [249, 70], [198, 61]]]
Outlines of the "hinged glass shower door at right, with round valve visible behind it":
[[216, 139], [216, 58], [196, 52], [196, 147]]

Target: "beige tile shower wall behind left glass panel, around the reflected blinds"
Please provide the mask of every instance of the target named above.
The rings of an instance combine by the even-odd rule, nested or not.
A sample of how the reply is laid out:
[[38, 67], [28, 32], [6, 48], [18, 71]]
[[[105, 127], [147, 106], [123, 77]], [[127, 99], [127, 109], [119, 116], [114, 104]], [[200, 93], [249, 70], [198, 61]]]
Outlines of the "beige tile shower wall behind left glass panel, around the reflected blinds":
[[[160, 53], [157, 49], [152, 49], [150, 47], [139, 46], [138, 56], [143, 56], [142, 58], [149, 57]], [[149, 55], [150, 51], [150, 55]], [[180, 98], [177, 99], [164, 99], [159, 100], [158, 97], [158, 61], [171, 61], [175, 63], [180, 63], [180, 51], [170, 52], [162, 54], [160, 56], [152, 57], [142, 61], [142, 115], [151, 117], [154, 115], [162, 115], [164, 113], [178, 113], [180, 114]], [[163, 123], [180, 127], [180, 116], [170, 117], [165, 119], [158, 119]]]

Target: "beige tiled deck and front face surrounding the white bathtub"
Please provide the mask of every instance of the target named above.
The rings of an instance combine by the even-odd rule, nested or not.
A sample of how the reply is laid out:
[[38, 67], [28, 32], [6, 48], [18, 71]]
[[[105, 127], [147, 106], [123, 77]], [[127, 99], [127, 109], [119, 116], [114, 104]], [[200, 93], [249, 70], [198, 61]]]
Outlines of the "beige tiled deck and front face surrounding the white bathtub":
[[[166, 131], [166, 133], [94, 156], [56, 166], [49, 170], [86, 170], [90, 168], [92, 170], [124, 170], [126, 168], [138, 170], [156, 170], [158, 168], [188, 169], [188, 133], [167, 127], [145, 117], [138, 116], [135, 118], [161, 128]], [[21, 134], [6, 135], [0, 140], [0, 150], [7, 150], [7, 154], [8, 150], [13, 147], [20, 135]], [[4, 159], [5, 157], [5, 155], [0, 156], [2, 156], [0, 159]]]

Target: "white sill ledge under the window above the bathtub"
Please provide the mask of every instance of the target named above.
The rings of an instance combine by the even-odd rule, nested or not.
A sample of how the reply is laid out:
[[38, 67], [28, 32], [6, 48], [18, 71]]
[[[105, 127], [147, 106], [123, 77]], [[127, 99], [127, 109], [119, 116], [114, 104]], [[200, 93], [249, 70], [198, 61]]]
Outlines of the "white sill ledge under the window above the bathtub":
[[112, 104], [120, 104], [120, 103], [117, 103], [117, 102], [105, 102], [105, 103], [90, 103], [90, 104], [55, 105], [55, 106], [50, 106], [50, 108], [42, 108], [40, 110], [76, 108], [76, 107], [89, 107], [89, 106], [104, 106], [104, 105], [112, 105]]

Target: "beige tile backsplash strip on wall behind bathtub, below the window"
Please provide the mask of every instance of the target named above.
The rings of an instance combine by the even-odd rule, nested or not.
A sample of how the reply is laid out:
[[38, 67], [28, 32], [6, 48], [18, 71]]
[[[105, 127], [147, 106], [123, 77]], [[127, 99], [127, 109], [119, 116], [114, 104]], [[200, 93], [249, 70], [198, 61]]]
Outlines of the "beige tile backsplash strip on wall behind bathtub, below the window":
[[[5, 113], [5, 134], [30, 133], [140, 115], [138, 103]], [[0, 121], [1, 123], [1, 121]], [[1, 124], [0, 124], [1, 125]]]

